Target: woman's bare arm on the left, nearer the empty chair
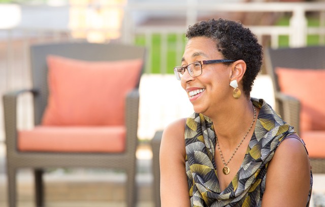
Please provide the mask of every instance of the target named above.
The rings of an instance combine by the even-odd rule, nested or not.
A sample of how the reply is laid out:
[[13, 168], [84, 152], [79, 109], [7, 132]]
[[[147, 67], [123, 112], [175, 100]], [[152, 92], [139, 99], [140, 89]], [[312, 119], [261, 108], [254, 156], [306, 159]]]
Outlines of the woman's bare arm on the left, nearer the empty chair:
[[185, 120], [170, 124], [160, 145], [161, 207], [190, 206], [185, 170]]

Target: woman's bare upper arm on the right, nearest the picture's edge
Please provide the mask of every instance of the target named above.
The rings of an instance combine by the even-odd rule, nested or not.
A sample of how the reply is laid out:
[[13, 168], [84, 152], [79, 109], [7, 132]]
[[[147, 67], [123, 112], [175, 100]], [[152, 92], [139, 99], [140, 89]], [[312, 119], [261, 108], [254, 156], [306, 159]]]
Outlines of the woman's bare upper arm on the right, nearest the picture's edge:
[[306, 207], [309, 187], [306, 149], [299, 140], [287, 137], [269, 164], [262, 206]]

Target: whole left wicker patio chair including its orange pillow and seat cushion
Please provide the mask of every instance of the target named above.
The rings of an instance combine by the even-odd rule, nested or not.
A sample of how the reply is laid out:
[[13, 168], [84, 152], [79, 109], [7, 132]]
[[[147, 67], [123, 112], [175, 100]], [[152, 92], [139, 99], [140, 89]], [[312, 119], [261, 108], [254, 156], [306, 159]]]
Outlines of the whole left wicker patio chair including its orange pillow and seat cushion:
[[[139, 82], [145, 48], [122, 44], [33, 45], [33, 88], [4, 95], [8, 200], [16, 172], [32, 168], [36, 206], [44, 206], [45, 168], [123, 169], [127, 206], [136, 204]], [[34, 97], [35, 127], [17, 129], [17, 98]], [[70, 101], [70, 102], [69, 102]]]

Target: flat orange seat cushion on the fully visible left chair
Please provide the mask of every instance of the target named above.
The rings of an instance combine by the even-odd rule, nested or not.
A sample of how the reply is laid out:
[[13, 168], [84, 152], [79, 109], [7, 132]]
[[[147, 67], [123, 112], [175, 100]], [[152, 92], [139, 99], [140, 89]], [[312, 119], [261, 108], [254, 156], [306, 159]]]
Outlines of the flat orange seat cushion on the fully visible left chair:
[[120, 153], [125, 150], [124, 126], [36, 126], [18, 131], [19, 151]]

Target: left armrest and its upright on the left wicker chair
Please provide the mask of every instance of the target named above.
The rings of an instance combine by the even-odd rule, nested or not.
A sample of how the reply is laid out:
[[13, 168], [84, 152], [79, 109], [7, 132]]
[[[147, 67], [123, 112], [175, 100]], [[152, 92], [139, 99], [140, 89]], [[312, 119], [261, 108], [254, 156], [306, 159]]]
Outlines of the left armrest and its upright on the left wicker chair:
[[8, 154], [16, 151], [17, 139], [17, 98], [23, 93], [37, 94], [35, 89], [24, 89], [5, 93], [3, 96], [4, 101], [4, 118], [5, 118], [5, 134], [6, 145]]

